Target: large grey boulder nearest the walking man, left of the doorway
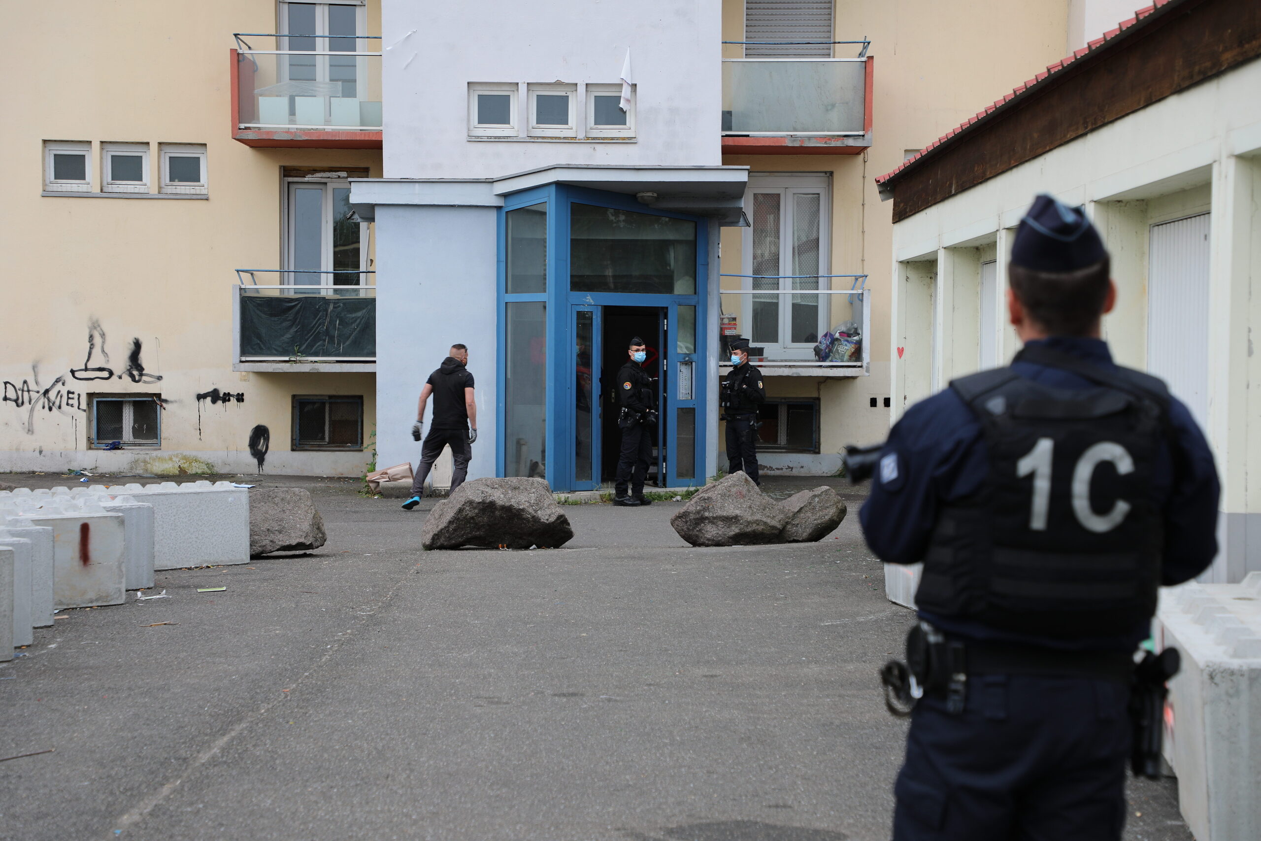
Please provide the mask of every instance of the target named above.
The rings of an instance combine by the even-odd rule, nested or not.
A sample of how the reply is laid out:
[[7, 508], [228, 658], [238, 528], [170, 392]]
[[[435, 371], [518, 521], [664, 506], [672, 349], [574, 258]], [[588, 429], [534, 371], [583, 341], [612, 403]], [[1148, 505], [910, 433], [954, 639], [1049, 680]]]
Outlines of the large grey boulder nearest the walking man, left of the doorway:
[[555, 548], [574, 537], [545, 479], [473, 479], [434, 506], [420, 543], [427, 548], [485, 546]]

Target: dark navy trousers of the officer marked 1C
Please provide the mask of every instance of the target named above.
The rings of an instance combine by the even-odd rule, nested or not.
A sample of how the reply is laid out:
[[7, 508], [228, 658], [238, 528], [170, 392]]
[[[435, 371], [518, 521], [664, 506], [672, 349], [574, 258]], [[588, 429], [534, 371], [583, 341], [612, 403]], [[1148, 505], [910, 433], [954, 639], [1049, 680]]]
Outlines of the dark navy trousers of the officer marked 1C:
[[1023, 675], [967, 680], [961, 715], [926, 696], [894, 786], [894, 841], [1117, 841], [1129, 688]]

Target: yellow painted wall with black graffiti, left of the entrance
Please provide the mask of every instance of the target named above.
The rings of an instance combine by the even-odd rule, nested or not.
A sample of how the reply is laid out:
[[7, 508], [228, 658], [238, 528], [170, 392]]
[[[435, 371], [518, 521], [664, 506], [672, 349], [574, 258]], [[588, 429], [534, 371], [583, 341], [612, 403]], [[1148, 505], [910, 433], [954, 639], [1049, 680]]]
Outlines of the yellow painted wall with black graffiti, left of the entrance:
[[[166, 453], [243, 453], [250, 430], [265, 424], [272, 460], [282, 463], [295, 393], [363, 395], [371, 431], [375, 374], [232, 371], [233, 270], [280, 267], [281, 166], [367, 166], [381, 175], [380, 150], [251, 149], [232, 139], [232, 33], [276, 32], [276, 14], [272, 0], [50, 0], [9, 8], [0, 380], [11, 387], [0, 402], [0, 461], [4, 453], [86, 446], [82, 397], [69, 398], [68, 391], [160, 393], [168, 403]], [[368, 26], [380, 32], [376, 3]], [[209, 198], [40, 197], [44, 140], [93, 141], [93, 190], [101, 183], [100, 141], [206, 144]], [[154, 192], [158, 169], [153, 149]], [[86, 366], [93, 322], [105, 347], [96, 339]], [[136, 338], [148, 378], [160, 381], [120, 378]], [[84, 367], [110, 368], [113, 377], [83, 382], [71, 374]], [[14, 398], [23, 382], [43, 390], [59, 377], [64, 382], [49, 397], [55, 405], [61, 395], [61, 410], [42, 405], [32, 412]], [[212, 388], [243, 400], [212, 406], [195, 398]], [[320, 473], [335, 461], [329, 472], [344, 473], [353, 463], [358, 473], [366, 459], [309, 453], [291, 464]]]

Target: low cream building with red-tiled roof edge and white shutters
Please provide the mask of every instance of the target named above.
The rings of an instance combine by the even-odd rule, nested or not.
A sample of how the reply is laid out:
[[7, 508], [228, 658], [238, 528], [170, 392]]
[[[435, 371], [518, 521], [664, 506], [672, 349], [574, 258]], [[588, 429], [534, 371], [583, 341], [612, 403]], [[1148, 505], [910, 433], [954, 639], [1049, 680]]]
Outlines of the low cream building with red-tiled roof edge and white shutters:
[[1038, 193], [1112, 256], [1103, 338], [1164, 378], [1222, 474], [1206, 580], [1261, 570], [1261, 6], [1165, 0], [876, 179], [893, 208], [890, 421], [1019, 349], [1006, 262]]

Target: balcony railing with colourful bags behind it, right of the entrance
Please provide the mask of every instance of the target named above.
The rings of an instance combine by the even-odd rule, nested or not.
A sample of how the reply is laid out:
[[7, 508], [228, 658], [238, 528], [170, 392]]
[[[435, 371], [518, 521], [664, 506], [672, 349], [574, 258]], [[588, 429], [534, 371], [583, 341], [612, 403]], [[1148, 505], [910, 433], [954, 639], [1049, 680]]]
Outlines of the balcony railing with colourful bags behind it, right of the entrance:
[[[870, 373], [871, 290], [866, 289], [866, 275], [721, 277], [740, 281], [739, 289], [720, 290], [724, 330], [734, 315], [735, 332], [749, 339], [755, 364], [772, 373], [776, 368], [818, 376]], [[851, 280], [851, 287], [830, 289], [837, 279]]]

